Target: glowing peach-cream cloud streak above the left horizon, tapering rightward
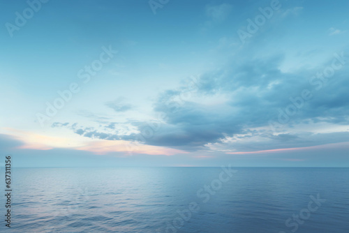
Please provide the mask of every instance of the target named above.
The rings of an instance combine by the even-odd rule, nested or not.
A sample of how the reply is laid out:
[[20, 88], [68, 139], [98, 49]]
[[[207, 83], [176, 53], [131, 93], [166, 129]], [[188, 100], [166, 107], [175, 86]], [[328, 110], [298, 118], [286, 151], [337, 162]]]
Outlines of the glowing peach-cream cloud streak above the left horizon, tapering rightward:
[[33, 150], [33, 151], [52, 151], [54, 149], [72, 149], [77, 151], [88, 151], [96, 155], [106, 155], [110, 153], [120, 153], [126, 156], [133, 154], [148, 154], [158, 156], [172, 156], [179, 153], [187, 153], [179, 149], [170, 149], [163, 146], [150, 146], [147, 144], [127, 142], [124, 140], [112, 140], [107, 133], [98, 133], [91, 130], [75, 130], [75, 133], [84, 135], [84, 137], [93, 137], [91, 140], [75, 140], [74, 137], [50, 137], [39, 135], [22, 130], [9, 131], [15, 135], [0, 134], [1, 151]]

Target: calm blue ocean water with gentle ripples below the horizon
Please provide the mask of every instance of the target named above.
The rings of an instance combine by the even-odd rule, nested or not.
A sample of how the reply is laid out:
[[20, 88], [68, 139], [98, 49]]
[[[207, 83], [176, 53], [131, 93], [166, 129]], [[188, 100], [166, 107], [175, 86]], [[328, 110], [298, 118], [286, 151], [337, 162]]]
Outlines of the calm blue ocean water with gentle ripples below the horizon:
[[349, 232], [349, 169], [235, 170], [17, 168], [0, 232]]

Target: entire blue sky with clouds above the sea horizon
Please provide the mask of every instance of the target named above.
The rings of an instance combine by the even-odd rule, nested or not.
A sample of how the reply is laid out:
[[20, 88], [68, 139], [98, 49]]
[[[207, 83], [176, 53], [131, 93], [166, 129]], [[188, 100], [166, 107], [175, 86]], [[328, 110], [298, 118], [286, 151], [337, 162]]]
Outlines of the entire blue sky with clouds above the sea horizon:
[[0, 1], [0, 151], [15, 167], [348, 167], [348, 8]]

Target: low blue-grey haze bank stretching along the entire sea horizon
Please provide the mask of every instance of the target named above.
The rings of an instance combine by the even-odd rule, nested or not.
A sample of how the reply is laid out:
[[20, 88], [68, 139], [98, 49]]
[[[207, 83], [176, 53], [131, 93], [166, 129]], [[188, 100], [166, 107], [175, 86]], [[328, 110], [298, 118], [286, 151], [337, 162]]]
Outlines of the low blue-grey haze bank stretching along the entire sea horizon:
[[[343, 135], [342, 135], [343, 136]], [[90, 141], [91, 142], [91, 141]], [[118, 144], [119, 143], [119, 144]], [[292, 166], [288, 162], [297, 162], [301, 166], [348, 166], [348, 144], [336, 144], [333, 146], [322, 146], [315, 150], [298, 150], [259, 153], [259, 154], [227, 154], [220, 151], [206, 152], [197, 151], [184, 153], [184, 151], [168, 150], [165, 148], [156, 149], [159, 155], [154, 155], [154, 151], [147, 153], [133, 153], [132, 156], [124, 149], [122, 142], [93, 141], [80, 146], [78, 149], [50, 149], [50, 151], [36, 149], [17, 149], [21, 141], [15, 140], [10, 135], [0, 135], [0, 149], [3, 154], [13, 155], [15, 167], [120, 167], [120, 166], [221, 166], [222, 164], [234, 164], [239, 167], [246, 166]], [[133, 144], [128, 149], [133, 149]], [[142, 149], [142, 147], [140, 148]], [[144, 149], [144, 148], [143, 148]], [[135, 150], [137, 151], [137, 150]], [[161, 153], [160, 151], [164, 151]], [[155, 152], [155, 153], [156, 153]], [[98, 156], [96, 156], [98, 154]], [[331, 156], [329, 156], [329, 154]], [[172, 156], [174, 155], [174, 156]], [[266, 157], [267, 156], [267, 157]], [[216, 159], [218, 158], [218, 159]], [[268, 163], [266, 163], [266, 158]], [[69, 163], [66, 163], [69, 161]], [[272, 162], [272, 163], [271, 163]]]

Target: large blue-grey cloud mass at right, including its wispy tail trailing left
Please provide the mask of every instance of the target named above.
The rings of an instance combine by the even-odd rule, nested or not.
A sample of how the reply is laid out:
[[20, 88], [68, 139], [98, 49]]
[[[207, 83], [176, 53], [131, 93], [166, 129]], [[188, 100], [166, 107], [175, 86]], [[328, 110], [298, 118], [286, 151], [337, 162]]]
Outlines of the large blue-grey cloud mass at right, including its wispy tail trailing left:
[[[183, 98], [183, 94], [188, 93], [185, 85], [160, 93], [153, 105], [154, 112], [164, 116], [156, 121], [155, 125], [159, 126], [130, 120], [125, 123], [135, 130], [120, 133], [112, 130], [117, 125], [114, 121], [105, 121], [101, 128], [82, 127], [75, 133], [103, 140], [141, 141], [184, 151], [248, 151], [341, 142], [340, 137], [321, 140], [309, 134], [290, 133], [300, 124], [348, 125], [348, 66], [336, 70], [326, 83], [313, 78], [331, 66], [333, 60], [330, 58], [311, 69], [283, 72], [280, 69], [283, 54], [251, 58], [242, 50], [225, 66], [200, 75], [195, 89], [189, 90], [188, 98]], [[318, 90], [318, 84], [311, 84], [310, 80], [321, 81], [322, 88]], [[313, 94], [311, 100], [302, 103], [290, 121], [281, 125], [278, 134], [273, 133], [269, 122], [277, 122], [280, 110], [285, 111], [292, 105], [292, 98], [299, 97], [304, 89]], [[228, 140], [237, 135], [238, 141]], [[242, 138], [246, 144], [241, 142]], [[226, 145], [218, 148], [219, 144]]]

